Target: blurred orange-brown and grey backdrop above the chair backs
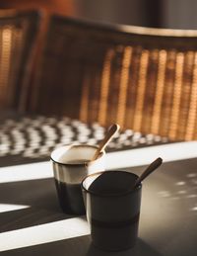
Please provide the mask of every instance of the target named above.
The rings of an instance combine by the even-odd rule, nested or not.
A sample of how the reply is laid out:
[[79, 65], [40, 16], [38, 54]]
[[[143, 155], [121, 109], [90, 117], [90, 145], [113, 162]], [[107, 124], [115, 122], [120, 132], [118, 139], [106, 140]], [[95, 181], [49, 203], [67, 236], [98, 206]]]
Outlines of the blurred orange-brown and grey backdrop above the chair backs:
[[1, 9], [41, 8], [101, 22], [153, 28], [197, 29], [195, 0], [1, 0]]

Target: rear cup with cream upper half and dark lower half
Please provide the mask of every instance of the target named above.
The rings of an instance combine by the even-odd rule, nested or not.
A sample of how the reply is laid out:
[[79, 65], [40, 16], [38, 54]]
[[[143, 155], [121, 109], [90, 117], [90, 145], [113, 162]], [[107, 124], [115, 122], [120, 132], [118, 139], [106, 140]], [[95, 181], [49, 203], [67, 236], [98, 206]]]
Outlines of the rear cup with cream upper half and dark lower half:
[[97, 149], [94, 145], [70, 144], [52, 151], [50, 158], [54, 181], [59, 204], [64, 213], [86, 213], [81, 182], [87, 175], [104, 171], [104, 151], [92, 161]]

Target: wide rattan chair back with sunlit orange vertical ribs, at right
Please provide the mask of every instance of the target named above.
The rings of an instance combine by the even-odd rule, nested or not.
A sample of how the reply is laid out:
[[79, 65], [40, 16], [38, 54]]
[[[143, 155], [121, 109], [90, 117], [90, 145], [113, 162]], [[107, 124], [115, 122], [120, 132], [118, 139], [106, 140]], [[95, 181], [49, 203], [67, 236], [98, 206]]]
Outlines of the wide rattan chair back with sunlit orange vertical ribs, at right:
[[197, 32], [51, 18], [31, 108], [197, 139]]

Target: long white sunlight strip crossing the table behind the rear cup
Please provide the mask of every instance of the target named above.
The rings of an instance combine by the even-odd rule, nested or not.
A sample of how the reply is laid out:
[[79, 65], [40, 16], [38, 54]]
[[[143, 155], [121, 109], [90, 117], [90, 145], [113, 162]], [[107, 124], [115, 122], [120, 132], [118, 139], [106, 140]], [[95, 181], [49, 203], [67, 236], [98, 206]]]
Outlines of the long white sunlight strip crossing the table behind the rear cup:
[[[109, 152], [105, 156], [105, 169], [113, 170], [148, 165], [159, 156], [163, 158], [164, 162], [196, 158], [197, 141], [169, 143]], [[193, 175], [193, 173], [188, 174], [188, 178], [193, 177]], [[52, 177], [53, 171], [50, 161], [0, 168], [0, 183]]]

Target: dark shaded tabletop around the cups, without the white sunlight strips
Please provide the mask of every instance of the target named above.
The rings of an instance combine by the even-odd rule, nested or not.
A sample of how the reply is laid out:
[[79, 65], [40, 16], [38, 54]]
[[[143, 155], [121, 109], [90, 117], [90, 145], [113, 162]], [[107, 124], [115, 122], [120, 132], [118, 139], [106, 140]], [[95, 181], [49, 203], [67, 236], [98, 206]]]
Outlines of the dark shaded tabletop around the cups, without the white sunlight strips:
[[[139, 174], [144, 168], [141, 166], [127, 170]], [[1, 183], [0, 204], [31, 206], [28, 209], [0, 213], [0, 248], [1, 235], [7, 231], [76, 217], [61, 212], [52, 177]], [[1, 252], [1, 255], [193, 256], [197, 251], [196, 220], [197, 159], [166, 162], [144, 181], [139, 239], [135, 248], [118, 253], [102, 252], [92, 245], [90, 235], [82, 235], [22, 246]]]

